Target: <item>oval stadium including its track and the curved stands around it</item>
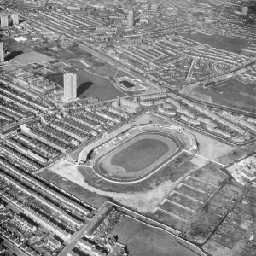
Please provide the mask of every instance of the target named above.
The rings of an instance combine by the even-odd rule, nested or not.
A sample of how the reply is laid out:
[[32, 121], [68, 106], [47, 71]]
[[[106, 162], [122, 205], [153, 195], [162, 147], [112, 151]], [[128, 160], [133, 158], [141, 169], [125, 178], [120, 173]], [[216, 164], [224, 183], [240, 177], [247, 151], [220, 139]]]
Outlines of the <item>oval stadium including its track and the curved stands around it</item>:
[[95, 148], [90, 161], [96, 174], [110, 182], [137, 183], [166, 166], [183, 149], [195, 147], [180, 127], [137, 125]]

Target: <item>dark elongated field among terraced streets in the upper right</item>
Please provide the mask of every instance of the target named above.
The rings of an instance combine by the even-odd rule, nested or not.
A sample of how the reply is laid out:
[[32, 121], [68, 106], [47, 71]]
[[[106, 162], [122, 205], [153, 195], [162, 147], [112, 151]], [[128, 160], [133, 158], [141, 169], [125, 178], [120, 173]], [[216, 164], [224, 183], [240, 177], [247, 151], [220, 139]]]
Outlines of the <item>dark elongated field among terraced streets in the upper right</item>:
[[214, 48], [224, 49], [235, 53], [241, 53], [241, 49], [247, 45], [247, 41], [245, 39], [234, 39], [218, 34], [208, 36], [206, 34], [197, 32], [189, 35], [189, 38], [201, 44], [208, 44]]

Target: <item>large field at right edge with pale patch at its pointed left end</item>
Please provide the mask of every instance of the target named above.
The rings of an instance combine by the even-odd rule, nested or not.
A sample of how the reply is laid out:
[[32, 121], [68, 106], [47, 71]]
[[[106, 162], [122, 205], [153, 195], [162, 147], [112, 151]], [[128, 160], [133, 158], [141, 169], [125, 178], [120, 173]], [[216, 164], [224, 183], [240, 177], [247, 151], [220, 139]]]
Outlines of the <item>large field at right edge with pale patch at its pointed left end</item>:
[[189, 85], [181, 92], [184, 95], [192, 96], [208, 103], [254, 112], [256, 110], [255, 88], [255, 84], [243, 84], [236, 79], [228, 79], [209, 89]]

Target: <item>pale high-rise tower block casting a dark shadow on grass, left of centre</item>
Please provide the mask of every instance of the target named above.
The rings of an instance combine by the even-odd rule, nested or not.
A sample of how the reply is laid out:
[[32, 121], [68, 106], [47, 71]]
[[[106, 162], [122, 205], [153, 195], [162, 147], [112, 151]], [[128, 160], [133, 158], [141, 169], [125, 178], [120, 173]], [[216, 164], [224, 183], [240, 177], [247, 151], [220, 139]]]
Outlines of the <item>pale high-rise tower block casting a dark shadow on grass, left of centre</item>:
[[64, 98], [66, 100], [77, 97], [77, 75], [75, 73], [64, 74]]

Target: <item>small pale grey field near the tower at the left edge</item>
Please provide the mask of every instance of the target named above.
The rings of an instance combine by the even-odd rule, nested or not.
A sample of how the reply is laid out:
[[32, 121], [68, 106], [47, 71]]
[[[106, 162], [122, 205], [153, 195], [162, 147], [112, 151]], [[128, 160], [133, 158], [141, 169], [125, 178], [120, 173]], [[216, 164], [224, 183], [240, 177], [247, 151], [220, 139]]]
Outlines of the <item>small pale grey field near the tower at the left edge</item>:
[[46, 56], [46, 55], [42, 55], [36, 51], [27, 51], [21, 55], [16, 56], [14, 59], [12, 59], [12, 61], [16, 61], [22, 65], [26, 65], [32, 62], [38, 62], [38, 63], [48, 63], [49, 61], [53, 61], [54, 59]]

